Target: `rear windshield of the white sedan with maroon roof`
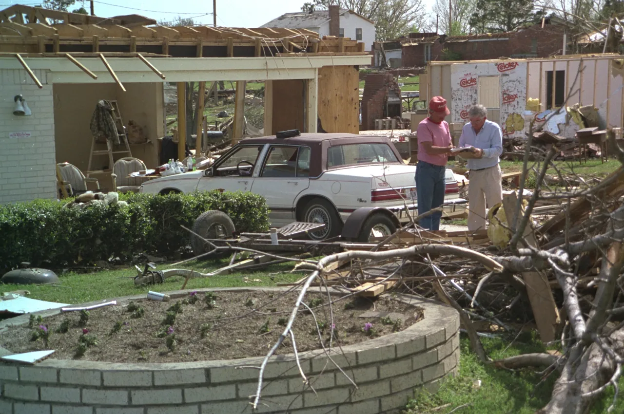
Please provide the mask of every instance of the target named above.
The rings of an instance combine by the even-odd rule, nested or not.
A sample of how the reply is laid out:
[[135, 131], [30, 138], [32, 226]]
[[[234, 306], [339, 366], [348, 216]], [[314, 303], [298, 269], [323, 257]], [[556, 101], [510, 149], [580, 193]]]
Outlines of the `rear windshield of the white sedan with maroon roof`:
[[399, 162], [388, 144], [363, 143], [329, 147], [327, 150], [327, 168], [364, 163]]

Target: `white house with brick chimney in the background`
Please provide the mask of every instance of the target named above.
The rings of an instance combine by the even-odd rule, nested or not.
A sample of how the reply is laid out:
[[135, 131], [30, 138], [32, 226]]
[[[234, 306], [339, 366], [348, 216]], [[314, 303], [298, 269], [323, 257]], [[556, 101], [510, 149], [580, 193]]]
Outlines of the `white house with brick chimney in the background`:
[[[375, 41], [375, 23], [360, 14], [340, 9], [339, 27], [341, 37], [350, 37], [353, 40], [364, 42], [365, 51], [370, 52]], [[286, 29], [308, 29], [317, 32], [319, 36], [329, 36], [328, 10], [315, 10], [311, 13], [300, 11], [282, 14], [277, 19], [263, 24], [261, 27], [286, 27]]]

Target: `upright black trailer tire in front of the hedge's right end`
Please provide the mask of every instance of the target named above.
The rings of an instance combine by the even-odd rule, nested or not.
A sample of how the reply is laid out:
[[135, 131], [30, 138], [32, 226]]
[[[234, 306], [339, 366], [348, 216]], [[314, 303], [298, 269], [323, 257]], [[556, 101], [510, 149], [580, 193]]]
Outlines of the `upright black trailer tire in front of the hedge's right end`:
[[[236, 231], [232, 219], [223, 211], [209, 210], [202, 213], [193, 223], [193, 233], [199, 234], [205, 239], [231, 238]], [[191, 234], [191, 247], [193, 254], [208, 253], [212, 246], [203, 241], [195, 234]], [[210, 254], [211, 259], [222, 259], [230, 254], [228, 251]]]

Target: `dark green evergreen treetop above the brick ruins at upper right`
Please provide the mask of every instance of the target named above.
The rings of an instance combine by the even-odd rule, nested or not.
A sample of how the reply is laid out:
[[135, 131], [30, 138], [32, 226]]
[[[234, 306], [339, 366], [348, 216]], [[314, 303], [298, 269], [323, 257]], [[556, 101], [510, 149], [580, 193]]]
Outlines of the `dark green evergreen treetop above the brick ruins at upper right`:
[[470, 26], [487, 32], [512, 32], [531, 26], [546, 16], [533, 0], [478, 0]]

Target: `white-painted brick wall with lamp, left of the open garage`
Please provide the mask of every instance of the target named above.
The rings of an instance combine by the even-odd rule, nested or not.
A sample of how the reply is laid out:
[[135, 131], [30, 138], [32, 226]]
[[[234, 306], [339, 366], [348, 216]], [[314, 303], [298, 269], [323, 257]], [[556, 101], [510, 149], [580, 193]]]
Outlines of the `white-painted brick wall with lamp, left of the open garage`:
[[[56, 198], [54, 102], [46, 70], [34, 70], [39, 89], [26, 70], [0, 69], [0, 203]], [[13, 115], [13, 97], [22, 94], [32, 116]], [[9, 138], [30, 132], [29, 138]]]

